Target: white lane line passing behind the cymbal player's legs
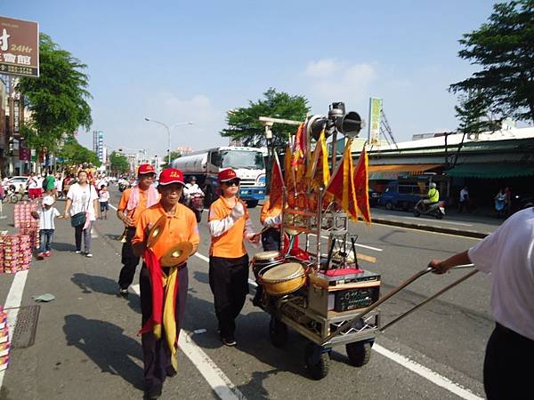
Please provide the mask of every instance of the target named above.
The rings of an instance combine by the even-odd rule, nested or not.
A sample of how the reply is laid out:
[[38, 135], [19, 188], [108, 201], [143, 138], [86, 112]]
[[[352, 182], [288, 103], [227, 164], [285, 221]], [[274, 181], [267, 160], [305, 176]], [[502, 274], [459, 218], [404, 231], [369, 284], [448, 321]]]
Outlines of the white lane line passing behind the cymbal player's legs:
[[[131, 287], [137, 295], [140, 295], [139, 284], [133, 284]], [[206, 355], [204, 350], [190, 339], [191, 333], [182, 329], [178, 345], [183, 354], [197, 367], [198, 372], [202, 374], [215, 394], [223, 400], [246, 400], [247, 397], [243, 396], [224, 372]]]

